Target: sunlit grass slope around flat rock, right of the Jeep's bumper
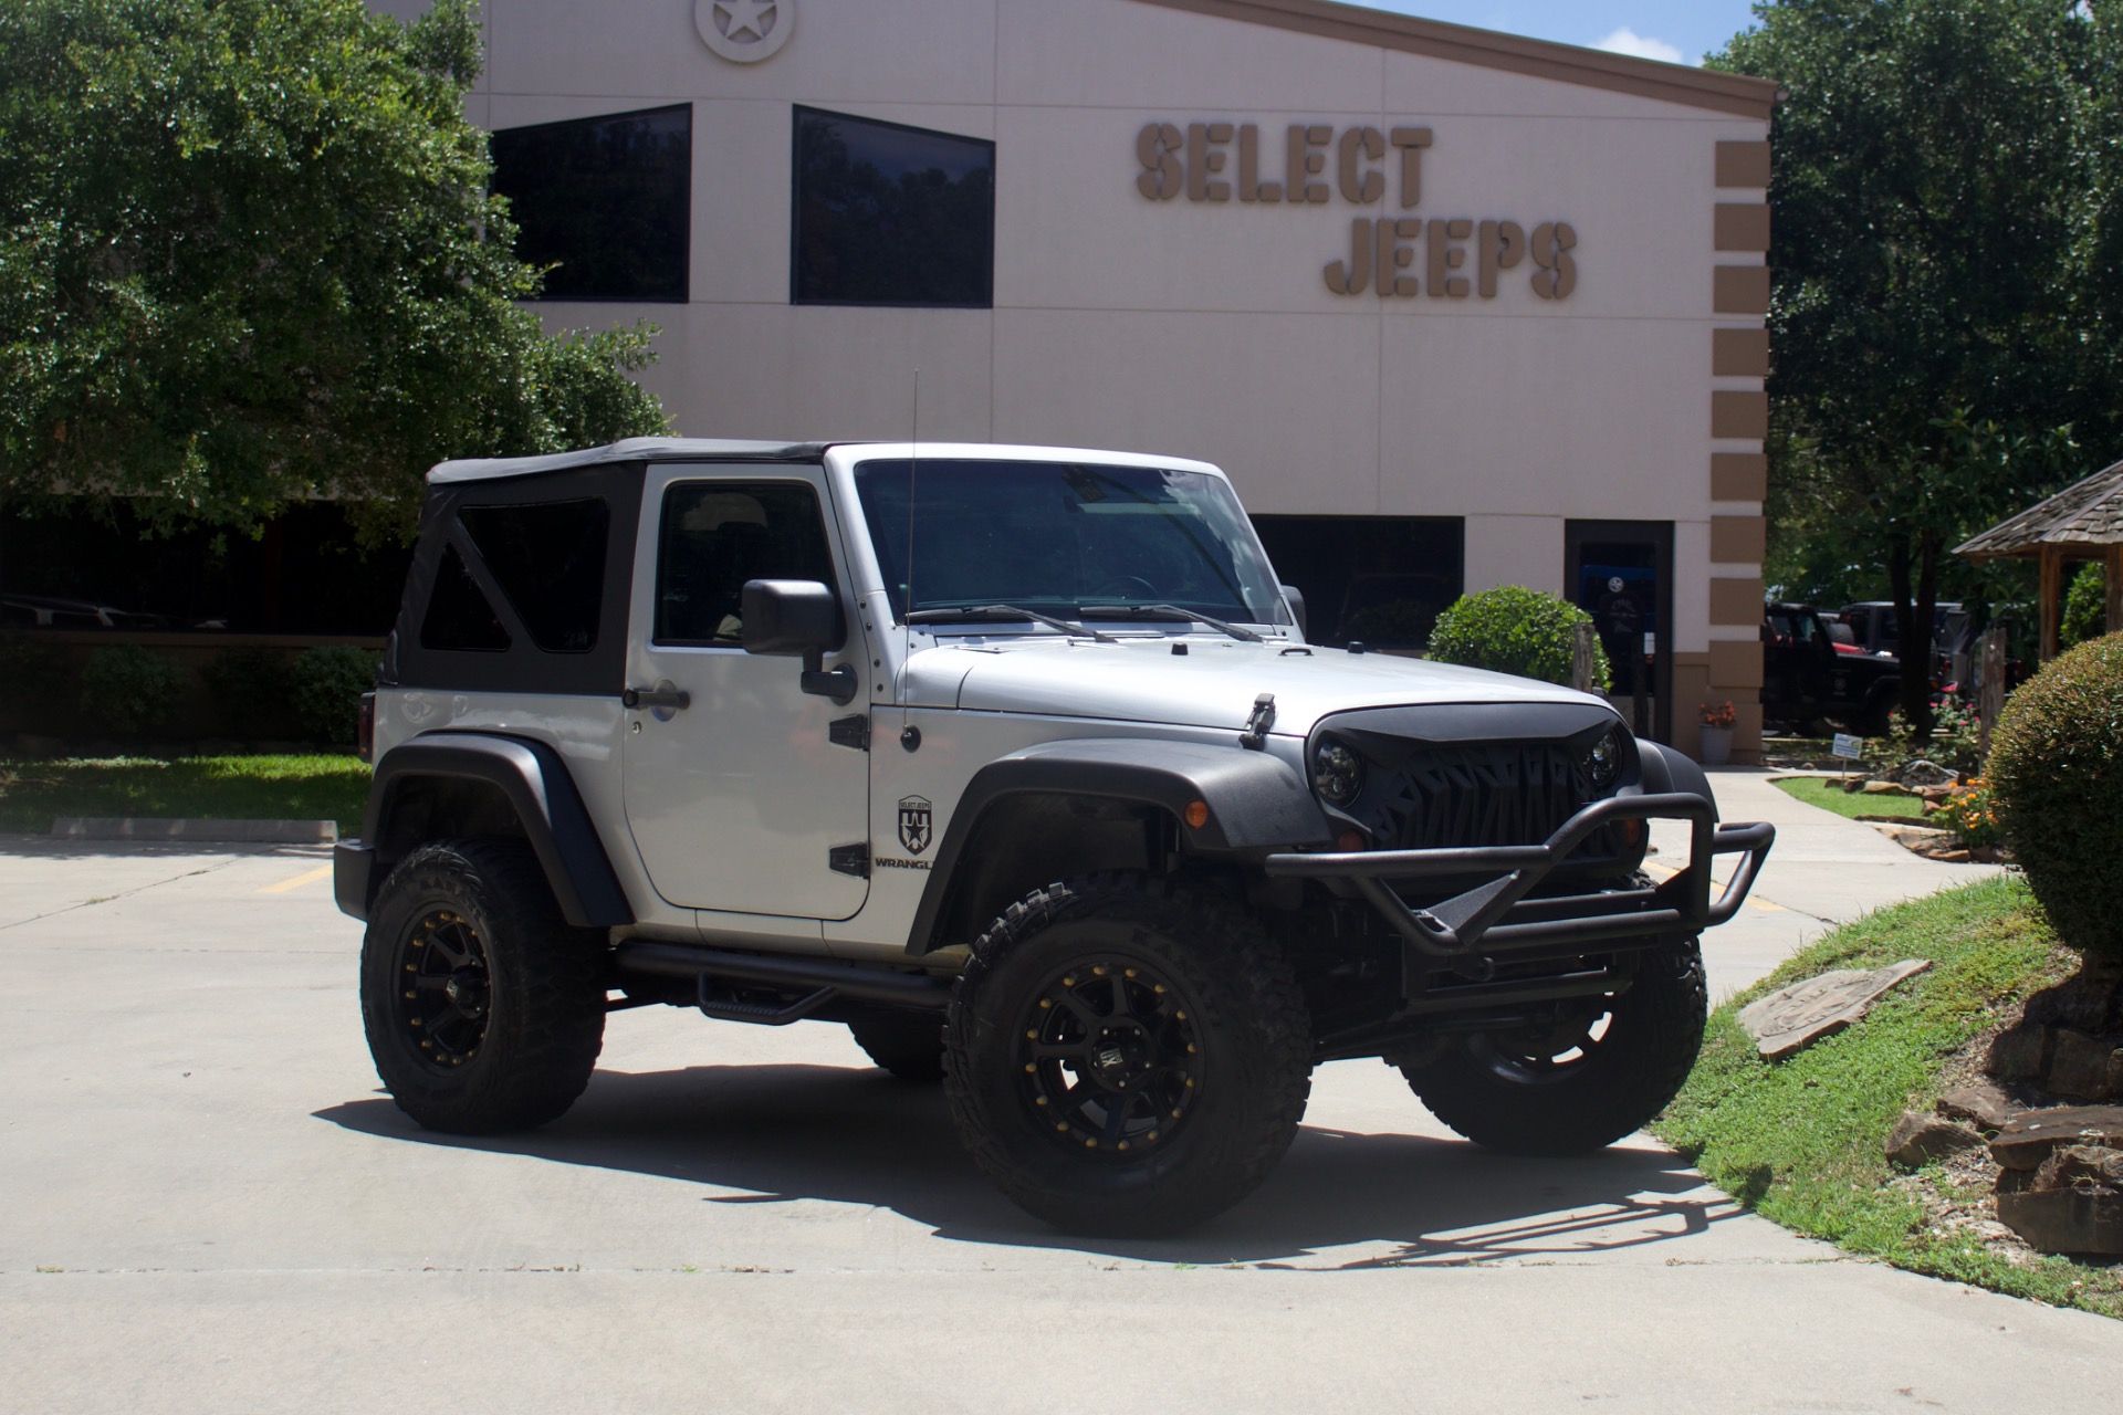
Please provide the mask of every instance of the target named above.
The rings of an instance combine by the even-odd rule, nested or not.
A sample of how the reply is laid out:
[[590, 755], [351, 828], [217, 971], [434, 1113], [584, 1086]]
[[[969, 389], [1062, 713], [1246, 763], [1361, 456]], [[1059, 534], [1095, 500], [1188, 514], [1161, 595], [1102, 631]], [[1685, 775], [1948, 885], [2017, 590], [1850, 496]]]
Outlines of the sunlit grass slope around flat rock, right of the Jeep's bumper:
[[[1739, 1008], [1830, 967], [1932, 959], [1866, 1020], [1779, 1063], [1762, 1061]], [[1991, 1254], [1934, 1230], [1883, 1141], [1904, 1107], [1940, 1093], [1940, 1067], [2019, 1001], [2066, 976], [2025, 883], [1966, 885], [1849, 923], [1711, 1016], [1703, 1056], [1652, 1131], [1749, 1209], [1896, 1266], [2123, 1317], [2123, 1264]]]

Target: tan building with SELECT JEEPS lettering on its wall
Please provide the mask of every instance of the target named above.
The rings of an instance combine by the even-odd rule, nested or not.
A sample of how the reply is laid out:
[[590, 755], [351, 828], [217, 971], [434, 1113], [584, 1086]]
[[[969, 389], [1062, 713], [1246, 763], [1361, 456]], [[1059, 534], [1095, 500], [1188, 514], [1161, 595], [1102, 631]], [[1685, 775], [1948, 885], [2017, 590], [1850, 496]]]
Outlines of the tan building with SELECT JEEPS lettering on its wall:
[[548, 320], [660, 325], [681, 433], [1208, 458], [1314, 636], [1560, 592], [1758, 749], [1775, 85], [1318, 0], [484, 13]]

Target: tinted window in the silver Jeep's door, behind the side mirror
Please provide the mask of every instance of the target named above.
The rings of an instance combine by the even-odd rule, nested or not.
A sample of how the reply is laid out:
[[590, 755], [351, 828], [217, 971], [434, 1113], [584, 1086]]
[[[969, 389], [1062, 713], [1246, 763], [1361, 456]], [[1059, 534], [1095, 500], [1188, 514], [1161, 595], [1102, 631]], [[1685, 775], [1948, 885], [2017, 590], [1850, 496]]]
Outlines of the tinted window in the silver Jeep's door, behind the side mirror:
[[817, 490], [802, 482], [679, 482], [656, 541], [656, 643], [739, 647], [747, 579], [834, 583]]

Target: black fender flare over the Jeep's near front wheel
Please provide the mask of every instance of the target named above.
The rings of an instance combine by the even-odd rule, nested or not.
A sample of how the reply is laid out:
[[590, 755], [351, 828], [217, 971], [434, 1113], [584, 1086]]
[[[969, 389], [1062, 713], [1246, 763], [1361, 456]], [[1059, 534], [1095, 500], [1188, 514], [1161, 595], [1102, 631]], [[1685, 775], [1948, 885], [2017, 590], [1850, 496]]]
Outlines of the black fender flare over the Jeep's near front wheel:
[[[1333, 840], [1310, 787], [1265, 751], [1153, 738], [1038, 743], [989, 762], [966, 783], [921, 889], [921, 906], [907, 933], [909, 955], [940, 946], [934, 931], [951, 897], [951, 880], [979, 838], [981, 819], [1011, 796], [1155, 806], [1180, 821], [1187, 849], [1199, 855], [1267, 853]], [[1193, 802], [1208, 804], [1208, 819], [1197, 827], [1185, 825]]]

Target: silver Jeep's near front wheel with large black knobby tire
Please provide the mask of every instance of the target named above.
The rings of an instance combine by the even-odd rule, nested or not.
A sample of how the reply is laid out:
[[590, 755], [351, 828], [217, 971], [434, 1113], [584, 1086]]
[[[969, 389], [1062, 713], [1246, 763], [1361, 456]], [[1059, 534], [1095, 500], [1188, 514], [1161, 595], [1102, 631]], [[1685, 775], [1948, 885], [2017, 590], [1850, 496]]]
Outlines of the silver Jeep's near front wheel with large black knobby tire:
[[1142, 876], [1013, 904], [945, 1025], [945, 1095], [974, 1160], [1072, 1233], [1174, 1233], [1229, 1209], [1289, 1150], [1310, 1084], [1282, 950], [1233, 904]]

